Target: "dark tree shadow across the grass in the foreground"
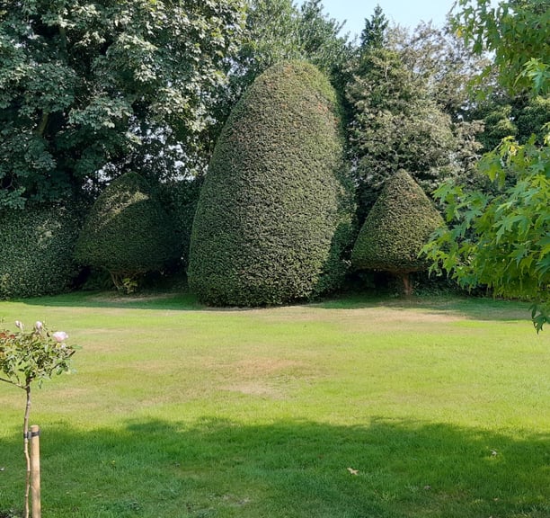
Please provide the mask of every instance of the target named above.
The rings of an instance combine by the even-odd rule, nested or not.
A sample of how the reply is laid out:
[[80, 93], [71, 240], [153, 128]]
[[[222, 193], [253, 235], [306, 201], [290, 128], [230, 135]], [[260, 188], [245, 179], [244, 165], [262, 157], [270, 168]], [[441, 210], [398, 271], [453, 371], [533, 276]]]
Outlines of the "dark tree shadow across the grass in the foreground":
[[[549, 445], [386, 419], [58, 425], [42, 430], [42, 508], [49, 518], [547, 518]], [[21, 500], [24, 468], [15, 438], [0, 452], [7, 510]]]

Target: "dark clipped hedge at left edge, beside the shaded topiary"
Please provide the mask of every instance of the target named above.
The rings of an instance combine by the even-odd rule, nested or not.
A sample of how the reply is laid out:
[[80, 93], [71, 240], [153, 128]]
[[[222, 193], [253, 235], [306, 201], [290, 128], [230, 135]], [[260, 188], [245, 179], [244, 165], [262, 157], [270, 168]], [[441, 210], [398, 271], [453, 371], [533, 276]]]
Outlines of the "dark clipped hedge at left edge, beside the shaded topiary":
[[78, 273], [73, 260], [80, 219], [61, 206], [0, 212], [0, 299], [67, 291]]

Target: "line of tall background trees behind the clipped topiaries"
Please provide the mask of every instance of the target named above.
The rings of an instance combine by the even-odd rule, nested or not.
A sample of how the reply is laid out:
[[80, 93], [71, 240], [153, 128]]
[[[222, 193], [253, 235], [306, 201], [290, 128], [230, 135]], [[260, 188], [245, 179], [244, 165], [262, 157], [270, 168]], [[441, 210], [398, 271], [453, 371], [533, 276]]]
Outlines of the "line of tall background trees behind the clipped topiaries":
[[28, 232], [52, 208], [80, 221], [132, 171], [175, 223], [185, 264], [220, 131], [255, 78], [282, 60], [318, 67], [340, 100], [358, 229], [401, 169], [428, 193], [449, 180], [499, 191], [476, 168], [483, 152], [508, 136], [544, 147], [548, 7], [458, 8], [445, 28], [409, 31], [377, 6], [350, 40], [320, 0], [0, 2], [3, 241], [25, 241], [10, 234], [23, 209]]

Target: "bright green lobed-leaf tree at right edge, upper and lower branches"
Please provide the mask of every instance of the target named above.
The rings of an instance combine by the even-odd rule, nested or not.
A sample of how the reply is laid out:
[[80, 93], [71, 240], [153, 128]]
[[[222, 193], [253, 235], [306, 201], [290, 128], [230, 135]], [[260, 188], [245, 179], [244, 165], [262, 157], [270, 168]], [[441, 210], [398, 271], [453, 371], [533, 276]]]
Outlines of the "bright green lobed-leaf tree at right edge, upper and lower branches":
[[[457, 22], [475, 50], [494, 51], [501, 85], [510, 94], [546, 92], [550, 78], [547, 3], [533, 0], [501, 2], [489, 9], [478, 0], [460, 0]], [[467, 5], [467, 6], [466, 6]], [[546, 37], [545, 37], [546, 34]], [[512, 51], [517, 49], [517, 51]], [[537, 66], [537, 74], [532, 74]], [[530, 80], [528, 83], [527, 80]], [[535, 303], [533, 323], [540, 331], [549, 321], [550, 302], [550, 138], [537, 145], [504, 139], [483, 156], [478, 169], [495, 183], [496, 192], [445, 185], [437, 196], [447, 204], [449, 228], [425, 248], [434, 261], [465, 287], [490, 287], [496, 295]]]

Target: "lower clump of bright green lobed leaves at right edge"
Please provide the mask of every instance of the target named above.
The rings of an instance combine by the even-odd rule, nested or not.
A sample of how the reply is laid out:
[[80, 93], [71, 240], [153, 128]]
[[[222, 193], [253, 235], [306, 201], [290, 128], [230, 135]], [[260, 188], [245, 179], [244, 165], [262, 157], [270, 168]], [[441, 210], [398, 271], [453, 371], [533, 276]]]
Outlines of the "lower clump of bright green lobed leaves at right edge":
[[[541, 303], [540, 329], [550, 312], [550, 147], [509, 138], [479, 167], [500, 188], [441, 186], [436, 196], [454, 225], [441, 229], [425, 252], [433, 270], [442, 267], [465, 288], [485, 285], [496, 295]], [[513, 178], [507, 186], [506, 177]]]

